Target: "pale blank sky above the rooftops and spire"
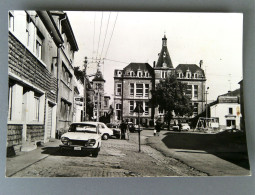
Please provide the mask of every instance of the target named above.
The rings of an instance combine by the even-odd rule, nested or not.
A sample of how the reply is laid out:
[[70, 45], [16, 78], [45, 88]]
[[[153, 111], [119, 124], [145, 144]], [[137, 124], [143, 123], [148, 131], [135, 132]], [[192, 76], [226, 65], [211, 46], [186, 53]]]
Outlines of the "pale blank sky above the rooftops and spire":
[[74, 66], [82, 68], [87, 56], [87, 74], [93, 75], [95, 59], [101, 59], [106, 95], [113, 95], [114, 69], [123, 69], [131, 62], [153, 66], [164, 34], [174, 68], [179, 64], [199, 65], [203, 60], [208, 100], [239, 88], [243, 78], [241, 13], [66, 13], [79, 47]]

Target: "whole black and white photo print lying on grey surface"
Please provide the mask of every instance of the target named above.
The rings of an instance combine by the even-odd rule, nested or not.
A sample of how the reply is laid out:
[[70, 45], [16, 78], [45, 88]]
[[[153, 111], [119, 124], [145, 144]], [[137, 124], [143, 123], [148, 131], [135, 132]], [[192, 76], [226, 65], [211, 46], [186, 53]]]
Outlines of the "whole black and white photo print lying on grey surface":
[[250, 176], [243, 79], [242, 13], [9, 10], [6, 177]]

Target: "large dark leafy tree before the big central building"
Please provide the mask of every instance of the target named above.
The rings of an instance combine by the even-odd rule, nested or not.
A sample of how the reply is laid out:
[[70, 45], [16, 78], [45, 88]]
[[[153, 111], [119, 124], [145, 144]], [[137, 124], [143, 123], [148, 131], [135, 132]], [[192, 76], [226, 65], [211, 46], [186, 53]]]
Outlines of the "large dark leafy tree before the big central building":
[[190, 116], [193, 107], [190, 104], [190, 98], [185, 95], [187, 84], [177, 80], [176, 75], [172, 74], [156, 85], [152, 90], [151, 105], [159, 107], [159, 110], [165, 111], [165, 120], [170, 128], [170, 121], [173, 118], [173, 112], [177, 116]]

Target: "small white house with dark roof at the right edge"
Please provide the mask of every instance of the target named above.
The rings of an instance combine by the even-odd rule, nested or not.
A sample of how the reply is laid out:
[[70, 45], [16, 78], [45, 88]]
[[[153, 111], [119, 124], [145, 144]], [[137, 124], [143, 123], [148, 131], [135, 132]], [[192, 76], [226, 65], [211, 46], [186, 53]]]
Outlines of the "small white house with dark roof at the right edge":
[[219, 118], [221, 129], [240, 129], [240, 89], [218, 96], [210, 106], [210, 116]]

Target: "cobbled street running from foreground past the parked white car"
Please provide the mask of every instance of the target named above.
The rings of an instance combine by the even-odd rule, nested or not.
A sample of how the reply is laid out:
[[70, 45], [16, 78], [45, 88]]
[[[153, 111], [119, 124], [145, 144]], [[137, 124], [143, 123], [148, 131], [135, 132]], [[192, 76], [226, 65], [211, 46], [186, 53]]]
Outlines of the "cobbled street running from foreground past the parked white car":
[[[102, 143], [97, 158], [86, 154], [61, 155], [58, 146], [43, 147], [40, 160], [9, 174], [11, 177], [146, 177], [146, 176], [207, 176], [172, 157], [146, 145], [153, 131], [141, 133], [141, 152], [138, 152], [138, 134], [131, 133], [130, 140], [109, 139]], [[59, 140], [57, 140], [59, 144]], [[29, 154], [27, 154], [29, 155]], [[7, 159], [11, 166], [15, 158]], [[29, 157], [28, 157], [29, 158]]]

